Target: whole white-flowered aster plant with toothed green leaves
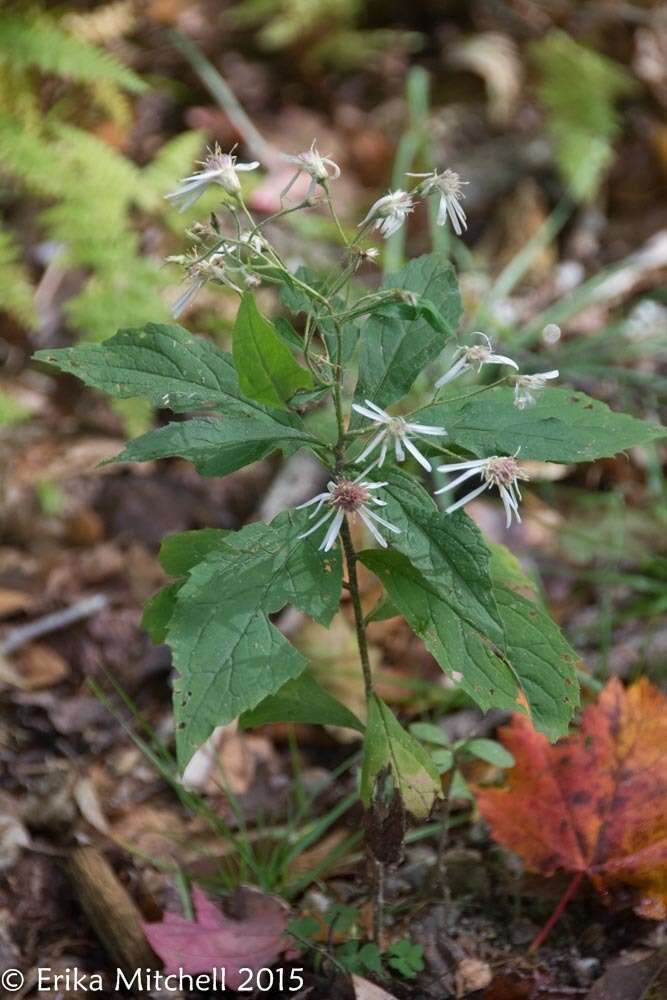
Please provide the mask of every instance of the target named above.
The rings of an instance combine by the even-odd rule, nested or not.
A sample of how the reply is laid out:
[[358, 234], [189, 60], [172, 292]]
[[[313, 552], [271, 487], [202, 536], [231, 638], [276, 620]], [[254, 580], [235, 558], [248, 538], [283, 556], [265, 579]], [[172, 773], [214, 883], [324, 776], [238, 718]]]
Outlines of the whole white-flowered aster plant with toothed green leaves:
[[[116, 398], [141, 396], [177, 415], [130, 441], [118, 461], [180, 456], [204, 476], [226, 476], [276, 450], [306, 449], [321, 464], [322, 490], [269, 524], [164, 540], [172, 582], [149, 601], [144, 625], [172, 651], [181, 766], [216, 726], [236, 719], [243, 727], [344, 726], [363, 736], [366, 808], [388, 782], [401, 809], [423, 818], [441, 796], [441, 777], [377, 693], [369, 618], [402, 615], [450, 683], [482, 710], [524, 712], [550, 739], [560, 737], [578, 705], [577, 654], [527, 596], [534, 589], [516, 561], [463, 508], [489, 491], [509, 525], [519, 520], [525, 463], [590, 462], [663, 430], [554, 385], [556, 371], [523, 372], [521, 359], [498, 353], [484, 333], [462, 337], [457, 279], [444, 256], [411, 260], [379, 286], [372, 280], [378, 248], [368, 238], [391, 236], [420, 201], [439, 197], [437, 221], [463, 231], [463, 182], [453, 171], [418, 175], [412, 190], [383, 194], [348, 235], [332, 200], [338, 165], [315, 144], [287, 161], [294, 179], [310, 177], [307, 196], [268, 219], [249, 211], [237, 175], [258, 164], [233, 152], [213, 150], [168, 195], [191, 205], [206, 187], [221, 188], [220, 212], [192, 227], [193, 246], [177, 258], [185, 290], [175, 312], [185, 314], [205, 286], [236, 296], [231, 353], [174, 323], [37, 358]], [[281, 218], [314, 207], [331, 214], [340, 235], [338, 263], [324, 276], [288, 266], [279, 249]], [[273, 320], [258, 308], [259, 285], [277, 291]], [[480, 383], [471, 388], [471, 378]], [[432, 399], [410, 412], [417, 379], [430, 383]], [[434, 494], [443, 493], [439, 506]], [[360, 565], [384, 588], [370, 614]], [[293, 605], [329, 626], [344, 591], [363, 719], [318, 682], [275, 619]]]

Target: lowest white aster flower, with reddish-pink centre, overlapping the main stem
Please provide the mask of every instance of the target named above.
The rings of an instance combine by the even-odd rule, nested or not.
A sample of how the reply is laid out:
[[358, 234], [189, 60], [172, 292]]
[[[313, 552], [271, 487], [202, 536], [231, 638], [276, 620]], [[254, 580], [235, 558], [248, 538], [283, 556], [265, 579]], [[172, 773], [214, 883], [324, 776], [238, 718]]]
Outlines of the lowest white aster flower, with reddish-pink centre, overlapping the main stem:
[[377, 525], [381, 524], [382, 527], [388, 531], [393, 531], [396, 535], [400, 534], [401, 529], [397, 528], [394, 524], [390, 524], [389, 521], [385, 521], [383, 517], [380, 517], [379, 514], [370, 509], [369, 504], [375, 504], [377, 507], [386, 507], [384, 500], [373, 496], [373, 490], [379, 490], [387, 484], [368, 482], [365, 476], [369, 472], [370, 469], [366, 469], [356, 479], [339, 479], [335, 482], [332, 480], [327, 483], [326, 493], [318, 493], [317, 496], [312, 497], [312, 499], [307, 500], [306, 503], [302, 503], [300, 507], [297, 507], [297, 510], [302, 510], [304, 507], [310, 507], [315, 504], [315, 510], [310, 515], [311, 518], [317, 517], [325, 504], [328, 508], [326, 514], [319, 518], [312, 528], [299, 535], [299, 538], [307, 538], [308, 535], [312, 535], [314, 531], [321, 528], [330, 518], [333, 518], [320, 545], [320, 552], [328, 552], [336, 543], [345, 516], [356, 517], [358, 514], [378, 545], [386, 549], [387, 543], [380, 534]]

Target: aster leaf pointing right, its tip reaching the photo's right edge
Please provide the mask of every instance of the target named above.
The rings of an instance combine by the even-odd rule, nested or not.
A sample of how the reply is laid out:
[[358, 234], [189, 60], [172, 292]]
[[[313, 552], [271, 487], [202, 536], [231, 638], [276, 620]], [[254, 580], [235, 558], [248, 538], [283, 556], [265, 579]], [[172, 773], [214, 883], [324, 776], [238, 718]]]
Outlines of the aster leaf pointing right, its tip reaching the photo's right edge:
[[499, 386], [468, 400], [427, 406], [410, 419], [444, 427], [448, 441], [480, 458], [520, 448], [520, 459], [590, 462], [667, 434], [570, 389], [544, 389], [534, 406], [519, 410], [512, 389]]

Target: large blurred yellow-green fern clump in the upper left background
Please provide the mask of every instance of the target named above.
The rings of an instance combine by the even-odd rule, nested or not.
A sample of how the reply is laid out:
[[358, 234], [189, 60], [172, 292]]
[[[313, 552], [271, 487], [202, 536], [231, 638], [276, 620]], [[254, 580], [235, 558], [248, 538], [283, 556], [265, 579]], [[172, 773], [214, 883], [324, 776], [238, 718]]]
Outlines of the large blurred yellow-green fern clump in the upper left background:
[[[37, 200], [37, 220], [44, 238], [59, 248], [59, 263], [83, 269], [81, 291], [64, 313], [70, 328], [99, 340], [119, 327], [167, 318], [164, 291], [171, 281], [161, 262], [142, 250], [137, 210], [171, 222], [164, 195], [190, 170], [203, 137], [186, 132], [141, 168], [72, 124], [82, 86], [98, 110], [120, 121], [130, 113], [122, 91], [137, 93], [144, 84], [102, 49], [68, 34], [64, 24], [38, 8], [0, 13], [0, 169], [13, 197]], [[43, 107], [39, 75], [47, 72], [75, 85], [71, 100], [65, 89], [57, 104]], [[0, 308], [25, 325], [35, 322], [26, 270], [3, 231], [0, 292]]]

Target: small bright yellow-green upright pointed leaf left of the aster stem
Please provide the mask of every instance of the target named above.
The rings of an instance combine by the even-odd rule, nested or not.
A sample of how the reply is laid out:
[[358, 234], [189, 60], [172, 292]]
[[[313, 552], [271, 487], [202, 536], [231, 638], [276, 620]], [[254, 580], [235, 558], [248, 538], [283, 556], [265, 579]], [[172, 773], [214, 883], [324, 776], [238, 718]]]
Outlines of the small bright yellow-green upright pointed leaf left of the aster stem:
[[301, 368], [273, 325], [246, 292], [233, 330], [234, 363], [241, 391], [267, 406], [285, 406], [297, 389], [312, 389], [310, 372]]

